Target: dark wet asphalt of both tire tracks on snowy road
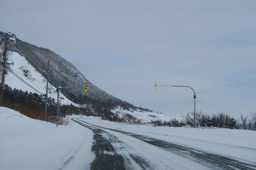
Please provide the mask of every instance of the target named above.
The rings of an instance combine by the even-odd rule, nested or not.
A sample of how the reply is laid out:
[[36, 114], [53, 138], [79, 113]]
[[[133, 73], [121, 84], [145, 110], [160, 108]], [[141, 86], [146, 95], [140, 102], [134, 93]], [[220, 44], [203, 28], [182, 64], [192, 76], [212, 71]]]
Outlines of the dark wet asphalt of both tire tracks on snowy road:
[[[204, 165], [209, 169], [256, 169], [255, 164], [248, 164], [241, 162], [239, 160], [231, 159], [228, 157], [223, 157], [221, 155], [215, 155], [212, 153], [207, 153], [202, 150], [196, 150], [194, 148], [189, 148], [187, 146], [177, 145], [174, 143], [162, 141], [159, 139], [149, 138], [147, 136], [134, 134], [132, 132], [120, 131], [118, 129], [110, 129], [106, 127], [100, 127], [92, 124], [88, 124], [83, 120], [72, 119], [77, 124], [83, 125], [84, 127], [93, 131], [93, 146], [92, 152], [95, 153], [95, 160], [92, 162], [91, 169], [134, 169], [131, 166], [129, 159], [119, 155], [111, 143], [119, 143], [120, 146], [124, 145], [115, 135], [110, 134], [104, 129], [119, 132], [127, 136], [131, 136], [136, 139], [140, 139], [145, 143], [157, 146], [168, 152], [172, 152], [175, 155], [184, 157], [188, 160], [192, 160], [198, 164]], [[106, 154], [107, 153], [107, 154]], [[143, 159], [138, 155], [130, 154], [132, 158], [141, 169], [155, 169], [151, 167], [147, 160]]]

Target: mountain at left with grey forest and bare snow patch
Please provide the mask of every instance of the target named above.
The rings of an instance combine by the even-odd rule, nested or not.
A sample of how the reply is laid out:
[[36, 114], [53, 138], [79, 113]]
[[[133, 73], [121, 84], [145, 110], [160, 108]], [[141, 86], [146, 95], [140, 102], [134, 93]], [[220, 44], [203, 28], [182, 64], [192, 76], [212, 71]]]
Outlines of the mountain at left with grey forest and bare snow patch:
[[[9, 48], [11, 51], [9, 61], [14, 62], [13, 69], [22, 75], [26, 76], [26, 79], [30, 78], [30, 82], [45, 93], [45, 71], [47, 70], [47, 60], [50, 60], [49, 64], [49, 83], [50, 96], [54, 97], [54, 91], [56, 87], [81, 87], [81, 89], [62, 89], [63, 98], [65, 98], [66, 104], [81, 104], [84, 106], [90, 106], [92, 108], [123, 108], [125, 110], [143, 110], [147, 109], [138, 108], [130, 103], [122, 101], [114, 96], [111, 96], [104, 90], [99, 89], [87, 80], [84, 75], [76, 69], [75, 66], [70, 64], [67, 60], [63, 59], [60, 55], [52, 52], [47, 48], [40, 48], [30, 43], [26, 43], [22, 40], [16, 42], [16, 44]], [[30, 76], [30, 77], [29, 77]], [[34, 80], [35, 78], [35, 80]], [[20, 83], [14, 81], [12, 75], [8, 75], [6, 83], [11, 87], [20, 87]], [[17, 80], [19, 81], [19, 80]], [[83, 91], [84, 81], [88, 81], [88, 92]], [[24, 87], [20, 87], [22, 90]], [[31, 91], [31, 89], [29, 90]], [[65, 97], [64, 97], [65, 96]], [[55, 97], [54, 97], [55, 98]]]

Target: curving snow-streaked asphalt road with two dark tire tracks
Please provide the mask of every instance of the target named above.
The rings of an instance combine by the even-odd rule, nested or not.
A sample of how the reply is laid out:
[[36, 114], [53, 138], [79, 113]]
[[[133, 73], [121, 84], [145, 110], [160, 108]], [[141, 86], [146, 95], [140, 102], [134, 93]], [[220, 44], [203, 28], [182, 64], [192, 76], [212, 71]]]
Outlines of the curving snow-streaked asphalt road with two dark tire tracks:
[[253, 162], [89, 124], [79, 118], [73, 120], [93, 131], [96, 158], [91, 169], [256, 169]]

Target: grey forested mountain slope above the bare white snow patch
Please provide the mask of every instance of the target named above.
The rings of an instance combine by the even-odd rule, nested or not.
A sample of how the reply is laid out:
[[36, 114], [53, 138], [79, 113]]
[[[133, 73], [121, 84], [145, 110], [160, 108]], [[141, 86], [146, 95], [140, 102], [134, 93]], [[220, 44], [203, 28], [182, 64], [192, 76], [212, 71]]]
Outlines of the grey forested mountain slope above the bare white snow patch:
[[[95, 103], [96, 105], [99, 103], [107, 103], [109, 107], [111, 105], [112, 108], [115, 106], [135, 108], [132, 104], [111, 96], [104, 90], [93, 85], [76, 69], [76, 66], [47, 48], [38, 47], [19, 39], [9, 50], [24, 56], [29, 64], [41, 74], [44, 74], [47, 69], [47, 60], [50, 60], [49, 74], [51, 75], [50, 82], [52, 85], [55, 87], [56, 85], [60, 85], [61, 87], [81, 87], [81, 89], [62, 89], [62, 93], [74, 103]], [[89, 90], [86, 93], [83, 91], [84, 81], [88, 81]]]

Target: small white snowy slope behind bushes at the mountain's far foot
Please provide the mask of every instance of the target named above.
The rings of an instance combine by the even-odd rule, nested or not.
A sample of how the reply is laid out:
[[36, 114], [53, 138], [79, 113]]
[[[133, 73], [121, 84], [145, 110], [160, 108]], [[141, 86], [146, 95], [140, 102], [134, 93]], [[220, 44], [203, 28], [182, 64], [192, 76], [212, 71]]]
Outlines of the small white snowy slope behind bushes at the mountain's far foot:
[[176, 120], [182, 120], [181, 117], [170, 117], [170, 116], [166, 116], [161, 113], [155, 113], [155, 112], [150, 112], [150, 111], [140, 111], [140, 110], [128, 111], [128, 110], [123, 110], [120, 107], [116, 108], [115, 110], [111, 110], [111, 111], [113, 113], [118, 114], [119, 117], [122, 117], [125, 113], [129, 113], [130, 115], [140, 119], [142, 123], [148, 123], [148, 122], [157, 121], [157, 120], [168, 122], [170, 120], [173, 120], [174, 118]]

